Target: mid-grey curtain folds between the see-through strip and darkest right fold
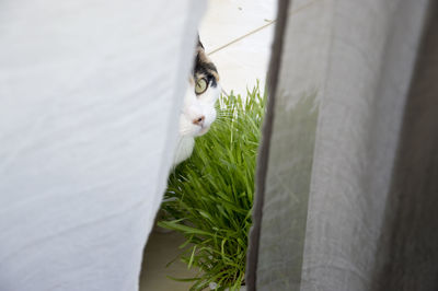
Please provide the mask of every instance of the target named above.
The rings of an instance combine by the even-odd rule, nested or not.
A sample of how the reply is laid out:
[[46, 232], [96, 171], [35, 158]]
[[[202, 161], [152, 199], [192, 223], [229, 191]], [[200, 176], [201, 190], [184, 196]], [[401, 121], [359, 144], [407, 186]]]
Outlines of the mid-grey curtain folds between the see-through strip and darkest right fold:
[[427, 1], [334, 1], [301, 290], [370, 290]]

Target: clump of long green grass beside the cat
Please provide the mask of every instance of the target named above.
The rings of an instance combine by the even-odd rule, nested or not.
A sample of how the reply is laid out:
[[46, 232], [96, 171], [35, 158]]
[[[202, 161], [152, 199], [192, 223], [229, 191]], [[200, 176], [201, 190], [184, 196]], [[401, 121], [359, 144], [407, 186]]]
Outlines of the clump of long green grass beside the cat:
[[180, 258], [198, 269], [191, 290], [210, 282], [218, 290], [244, 283], [247, 235], [254, 198], [254, 174], [266, 96], [258, 86], [240, 95], [221, 96], [218, 118], [196, 139], [191, 159], [169, 177], [162, 203], [162, 228], [186, 237]]

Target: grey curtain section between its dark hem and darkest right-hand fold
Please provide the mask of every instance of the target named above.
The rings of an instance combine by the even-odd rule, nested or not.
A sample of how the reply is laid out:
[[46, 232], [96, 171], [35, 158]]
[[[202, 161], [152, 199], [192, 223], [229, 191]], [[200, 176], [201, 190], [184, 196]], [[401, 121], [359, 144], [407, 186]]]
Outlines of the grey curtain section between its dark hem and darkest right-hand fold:
[[288, 18], [257, 289], [373, 286], [427, 2], [314, 1]]

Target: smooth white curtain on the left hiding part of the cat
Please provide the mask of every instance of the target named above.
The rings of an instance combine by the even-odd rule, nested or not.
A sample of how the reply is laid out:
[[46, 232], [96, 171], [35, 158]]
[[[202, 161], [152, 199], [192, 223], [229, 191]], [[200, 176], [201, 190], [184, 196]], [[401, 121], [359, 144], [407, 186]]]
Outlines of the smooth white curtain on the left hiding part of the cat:
[[0, 290], [137, 290], [204, 1], [0, 2]]

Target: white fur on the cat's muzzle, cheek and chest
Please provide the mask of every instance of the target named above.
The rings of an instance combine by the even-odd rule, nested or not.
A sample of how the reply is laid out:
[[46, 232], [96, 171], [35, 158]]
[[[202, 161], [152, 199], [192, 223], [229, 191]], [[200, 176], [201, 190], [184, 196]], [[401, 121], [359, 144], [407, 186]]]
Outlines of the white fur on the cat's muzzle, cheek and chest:
[[[195, 137], [205, 135], [216, 119], [215, 103], [220, 95], [220, 85], [208, 86], [207, 91], [200, 95], [195, 94], [195, 86], [188, 84], [183, 109], [180, 114], [180, 135], [175, 151], [173, 165], [177, 165], [192, 155], [195, 146]], [[193, 121], [205, 117], [201, 126]]]

